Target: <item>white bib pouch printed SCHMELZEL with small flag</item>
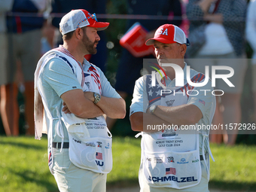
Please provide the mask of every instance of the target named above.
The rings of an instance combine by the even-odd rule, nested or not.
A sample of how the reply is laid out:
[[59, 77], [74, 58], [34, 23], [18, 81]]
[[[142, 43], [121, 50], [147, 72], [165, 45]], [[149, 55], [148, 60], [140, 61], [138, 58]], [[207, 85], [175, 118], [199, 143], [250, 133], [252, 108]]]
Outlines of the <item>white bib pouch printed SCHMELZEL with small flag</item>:
[[[148, 185], [151, 187], [172, 187], [175, 189], [183, 189], [187, 187], [193, 187], [200, 183], [202, 171], [200, 163], [199, 153], [199, 137], [195, 133], [194, 137], [196, 146], [193, 150], [185, 150], [184, 152], [177, 151], [148, 151], [147, 144], [148, 137], [145, 137], [145, 133], [142, 135], [142, 172], [144, 175], [140, 175], [139, 179], [145, 179], [148, 181]], [[189, 134], [188, 134], [189, 135]], [[176, 141], [184, 142], [186, 145], [187, 134], [179, 134], [179, 140], [169, 139], [169, 142], [164, 145], [179, 145]], [[159, 140], [158, 140], [159, 142]], [[151, 142], [152, 143], [152, 142]], [[155, 140], [154, 144], [157, 143]], [[163, 145], [163, 144], [162, 144]], [[145, 176], [145, 178], [143, 178]]]

